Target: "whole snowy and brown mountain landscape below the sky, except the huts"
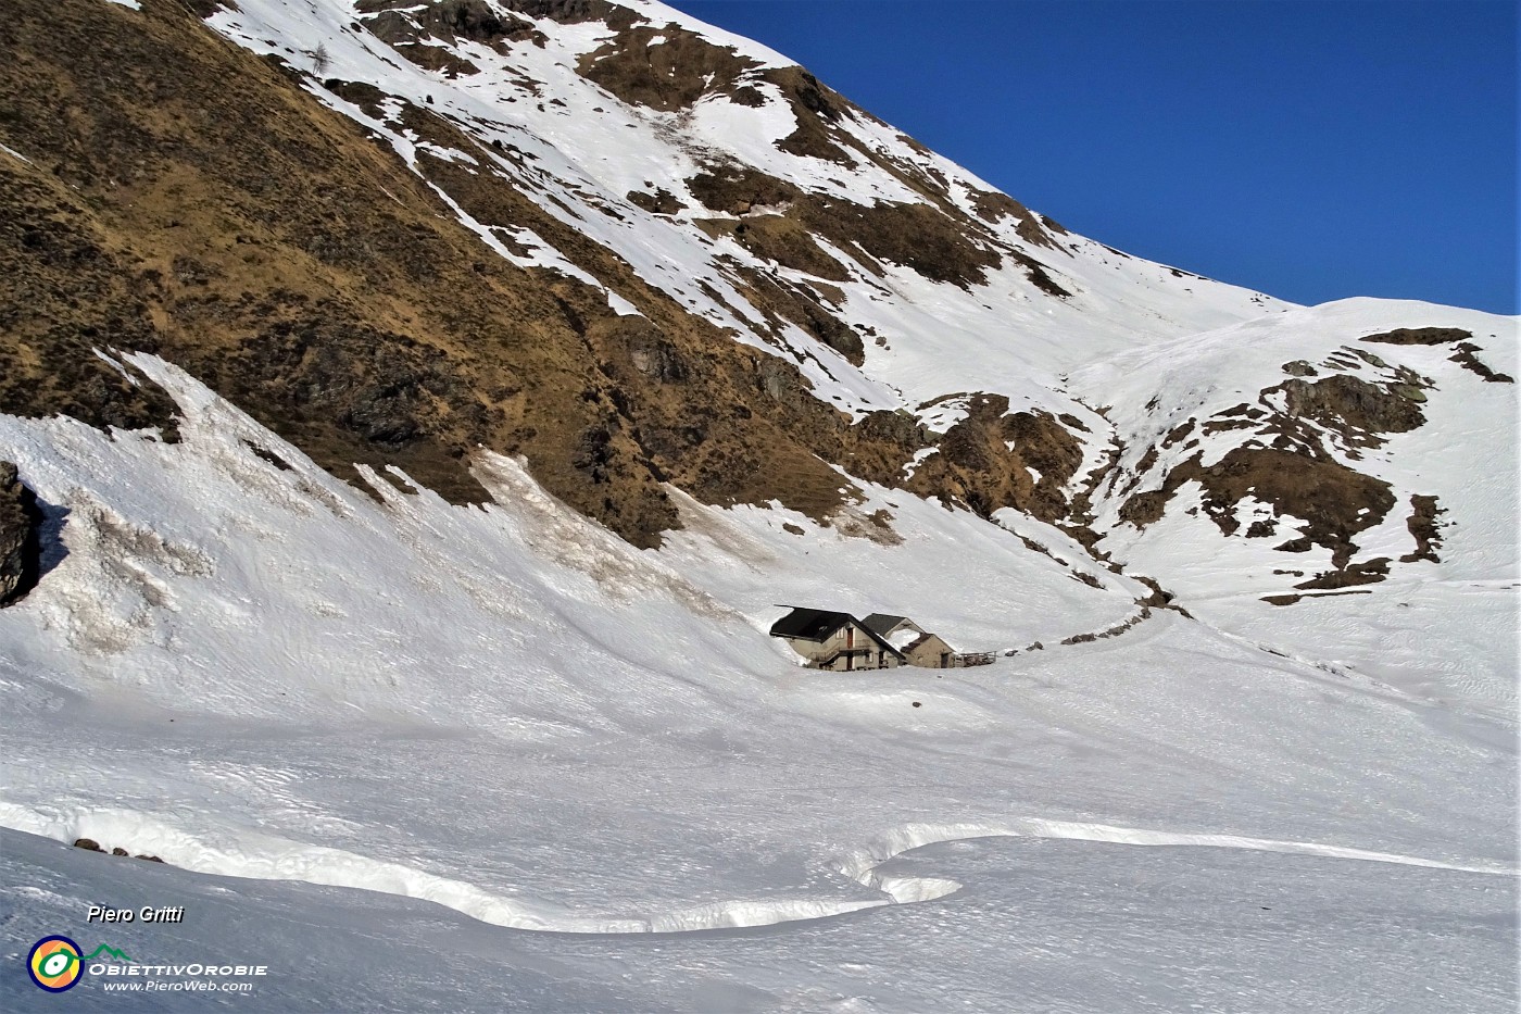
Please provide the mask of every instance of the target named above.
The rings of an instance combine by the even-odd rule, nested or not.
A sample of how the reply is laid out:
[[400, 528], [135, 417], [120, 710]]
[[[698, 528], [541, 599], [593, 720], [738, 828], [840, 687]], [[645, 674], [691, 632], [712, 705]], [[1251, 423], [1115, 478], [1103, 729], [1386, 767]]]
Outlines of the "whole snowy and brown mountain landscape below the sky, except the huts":
[[1515, 318], [1126, 256], [645, 0], [0, 32], [8, 1009], [47, 932], [251, 1009], [1510, 1003]]

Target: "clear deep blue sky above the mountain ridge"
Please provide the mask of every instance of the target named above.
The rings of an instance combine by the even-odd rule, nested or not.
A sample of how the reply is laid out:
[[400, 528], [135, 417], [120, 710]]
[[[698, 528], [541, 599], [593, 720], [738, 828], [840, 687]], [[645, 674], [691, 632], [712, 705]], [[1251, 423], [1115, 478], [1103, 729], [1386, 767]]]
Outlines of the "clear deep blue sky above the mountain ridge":
[[1121, 250], [1518, 312], [1513, 2], [672, 2]]

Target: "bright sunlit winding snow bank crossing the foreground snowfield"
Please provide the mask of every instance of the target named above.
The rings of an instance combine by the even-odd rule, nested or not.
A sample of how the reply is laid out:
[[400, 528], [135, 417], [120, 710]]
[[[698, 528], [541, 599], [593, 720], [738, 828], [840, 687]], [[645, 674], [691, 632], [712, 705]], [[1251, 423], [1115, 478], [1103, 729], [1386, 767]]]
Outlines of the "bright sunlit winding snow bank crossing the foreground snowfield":
[[43, 812], [0, 801], [0, 827], [73, 842], [88, 837], [129, 853], [148, 853], [195, 872], [252, 880], [297, 880], [336, 888], [376, 891], [433, 901], [470, 918], [510, 929], [549, 933], [683, 933], [797, 923], [859, 912], [885, 904], [934, 901], [961, 889], [941, 877], [882, 875], [878, 868], [925, 845], [984, 837], [1039, 837], [1110, 845], [1229, 848], [1255, 853], [1285, 853], [1357, 862], [1424, 866], [1466, 874], [1516, 877], [1521, 871], [1501, 866], [1468, 866], [1419, 856], [1288, 842], [1237, 834], [1189, 834], [1151, 828], [1115, 827], [1078, 821], [1022, 818], [1007, 824], [907, 824], [829, 863], [837, 872], [879, 891], [881, 900], [832, 901], [829, 898], [783, 898], [707, 903], [646, 915], [580, 915], [564, 906], [532, 898], [491, 894], [464, 880], [441, 877], [403, 863], [383, 862], [357, 853], [291, 842], [256, 831], [224, 831], [196, 836], [170, 822], [129, 810]]

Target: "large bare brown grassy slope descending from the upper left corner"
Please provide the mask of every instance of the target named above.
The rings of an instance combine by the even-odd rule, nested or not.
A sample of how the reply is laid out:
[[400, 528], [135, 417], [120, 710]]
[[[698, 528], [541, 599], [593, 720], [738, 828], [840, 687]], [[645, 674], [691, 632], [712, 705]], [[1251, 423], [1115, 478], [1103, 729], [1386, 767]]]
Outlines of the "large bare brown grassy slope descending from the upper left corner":
[[289, 69], [172, 0], [143, 8], [15, 0], [0, 21], [0, 140], [33, 163], [0, 154], [0, 411], [161, 420], [161, 399], [88, 353], [152, 350], [338, 475], [397, 463], [478, 499], [465, 455], [485, 445], [639, 545], [675, 524], [660, 478], [824, 516], [824, 460], [887, 478], [917, 446], [849, 426], [795, 367], [686, 314], [510, 180], [429, 163], [648, 320], [505, 263]]

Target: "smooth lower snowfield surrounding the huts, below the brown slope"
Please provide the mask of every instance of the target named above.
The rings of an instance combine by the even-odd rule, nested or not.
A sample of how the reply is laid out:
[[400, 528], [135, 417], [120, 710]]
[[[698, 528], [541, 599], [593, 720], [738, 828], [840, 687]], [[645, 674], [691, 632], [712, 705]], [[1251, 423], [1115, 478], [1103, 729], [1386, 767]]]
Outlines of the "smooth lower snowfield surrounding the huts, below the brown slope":
[[[879, 863], [993, 836], [1053, 845], [1016, 860], [1037, 882], [1089, 880], [1101, 862], [1132, 891], [1182, 877], [1212, 898], [1206, 915], [1154, 909], [1145, 936], [1156, 955], [1206, 947], [1220, 970], [1110, 990], [1077, 987], [1081, 959], [1056, 959], [1036, 976], [1048, 985], [1022, 987], [1033, 1000], [1097, 1011], [1129, 994], [1161, 1009], [1168, 996], [1218, 997], [1224, 970], [1250, 968], [1258, 1006], [1294, 1009], [1348, 987], [1296, 973], [1290, 936], [1323, 935], [1396, 973], [1421, 953], [1415, 921], [1436, 904], [1424, 898], [1459, 892], [1472, 901], [1442, 923], [1437, 947], [1453, 958], [1433, 973], [1456, 977], [1421, 1003], [1507, 1002], [1516, 801], [1510, 780], [1474, 772], [1512, 770], [1515, 748], [1484, 708], [1293, 661], [1171, 611], [1060, 644], [1080, 620], [1124, 615], [1142, 588], [1069, 560], [1095, 589], [1011, 533], [900, 492], [873, 490], [868, 504], [897, 512], [900, 544], [680, 501], [687, 525], [659, 551], [599, 530], [503, 458], [476, 463], [497, 496], [485, 509], [374, 477], [377, 504], [173, 367], [129, 364], [175, 399], [176, 443], [3, 420], [61, 542], [37, 589], [0, 611], [6, 741], [24, 761], [8, 767], [0, 824], [169, 868], [59, 857], [8, 833], [8, 955], [44, 930], [93, 941], [76, 900], [110, 875], [111, 900], [181, 891], [190, 906], [183, 930], [122, 936], [143, 953], [176, 958], [198, 941], [278, 965], [259, 1009], [329, 1005], [322, 988], [304, 993], [319, 958], [275, 942], [292, 923], [344, 935], [341, 950], [383, 923], [373, 955], [414, 970], [473, 941], [467, 952], [491, 955], [485, 982], [543, 976], [531, 1009], [852, 996], [926, 1009], [923, 984], [823, 971], [861, 949], [888, 962], [908, 949], [922, 974], [960, 970], [943, 988], [987, 1009], [1034, 968], [1021, 947], [987, 945], [1007, 930], [986, 914], [1016, 904], [1022, 939], [1071, 953], [1065, 895], [1008, 894], [1021, 878], [984, 880], [978, 863], [932, 851]], [[1059, 557], [1080, 548], [1025, 534], [1049, 536]], [[1046, 647], [973, 670], [806, 676], [764, 635], [768, 591], [902, 609], [963, 647]], [[1168, 850], [1209, 856], [1153, 857]], [[81, 865], [116, 862], [129, 865]], [[1200, 880], [1200, 868], [1214, 872]], [[1256, 918], [1287, 906], [1302, 923], [1270, 945], [1209, 944], [1241, 918], [1227, 897], [1244, 883]], [[1310, 903], [1326, 895], [1345, 907]], [[1135, 897], [1112, 900], [1122, 920]], [[225, 904], [246, 920], [237, 939], [211, 930]], [[1399, 915], [1367, 918], [1380, 909]], [[580, 936], [525, 941], [464, 918]], [[432, 929], [414, 936], [415, 920]], [[966, 938], [948, 920], [980, 929]], [[738, 926], [773, 927], [760, 938], [771, 971], [754, 965], [756, 942], [722, 936]], [[680, 932], [660, 947], [689, 958], [665, 964], [646, 996], [622, 974], [651, 952], [616, 941], [649, 930]], [[400, 938], [411, 942], [397, 950]], [[1122, 961], [1139, 953], [1116, 947]], [[815, 965], [823, 993], [795, 973]], [[371, 996], [367, 967], [332, 974]], [[435, 1002], [435, 971], [402, 971], [379, 1006]], [[583, 985], [561, 982], [570, 974]], [[21, 987], [5, 985], [30, 1009]], [[79, 993], [108, 1002], [97, 981]]]

